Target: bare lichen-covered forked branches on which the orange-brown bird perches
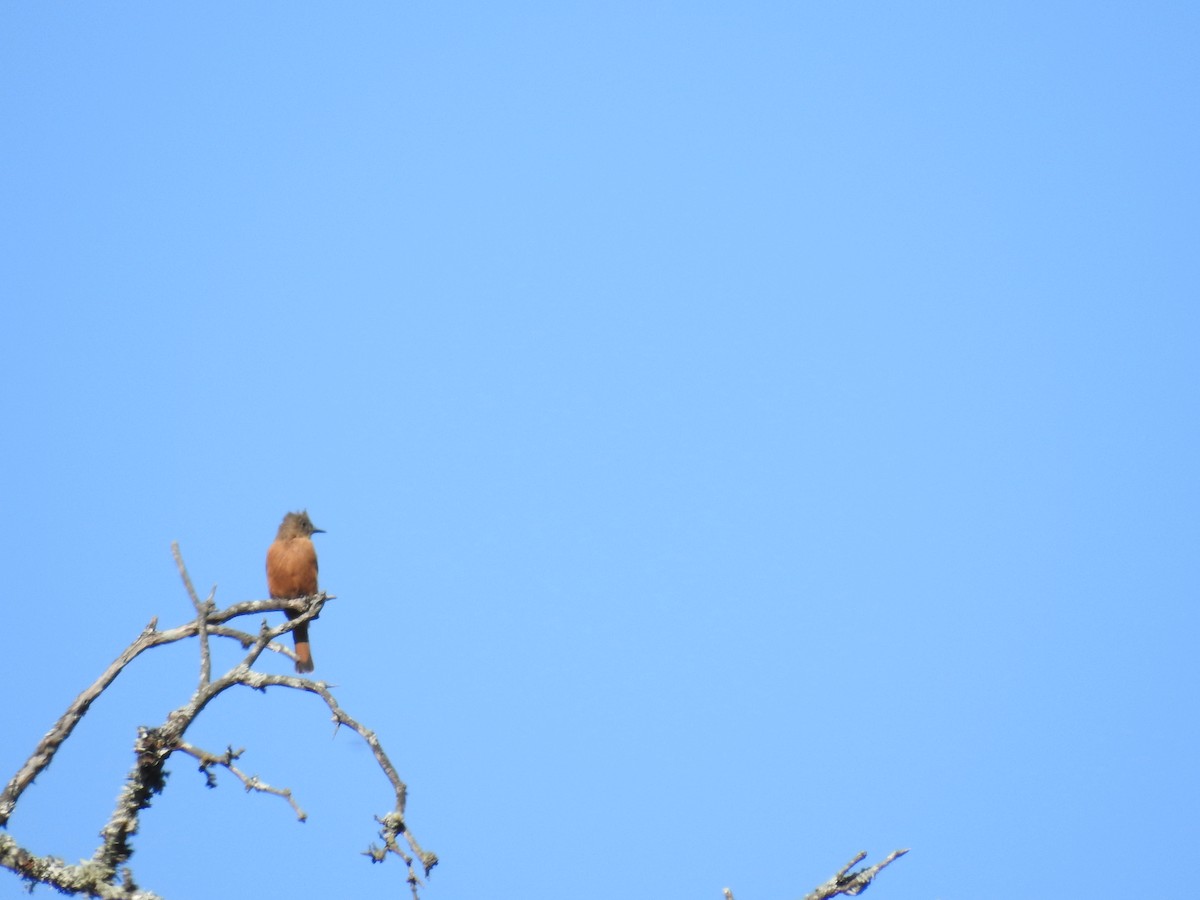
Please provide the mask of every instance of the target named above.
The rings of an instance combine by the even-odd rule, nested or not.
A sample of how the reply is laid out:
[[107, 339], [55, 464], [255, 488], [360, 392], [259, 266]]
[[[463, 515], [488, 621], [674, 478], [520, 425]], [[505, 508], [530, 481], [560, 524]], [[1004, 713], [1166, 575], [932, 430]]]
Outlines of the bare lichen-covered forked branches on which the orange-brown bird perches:
[[[25, 763], [17, 770], [17, 774], [8, 781], [4, 791], [0, 791], [0, 827], [7, 827], [8, 820], [12, 817], [22, 794], [34, 782], [34, 779], [50, 764], [59, 748], [71, 737], [74, 727], [88, 713], [95, 700], [125, 671], [125, 667], [130, 662], [140, 656], [145, 650], [188, 637], [198, 637], [200, 646], [200, 673], [196, 692], [187, 703], [168, 714], [161, 725], [138, 728], [137, 739], [133, 744], [133, 768], [125, 779], [125, 785], [118, 796], [113, 815], [103, 829], [101, 829], [102, 842], [90, 860], [79, 865], [67, 865], [61, 859], [54, 857], [38, 857], [20, 847], [11, 835], [0, 834], [0, 866], [16, 872], [31, 886], [35, 883], [49, 884], [67, 894], [97, 896], [102, 898], [102, 900], [116, 900], [118, 898], [120, 900], [157, 900], [155, 894], [140, 890], [133, 882], [132, 872], [121, 866], [133, 853], [130, 839], [137, 834], [138, 816], [142, 810], [150, 805], [150, 798], [163, 790], [167, 774], [164, 767], [175, 752], [184, 752], [197, 758], [200, 762], [200, 772], [204, 773], [210, 786], [214, 784], [212, 767], [221, 766], [240, 779], [247, 791], [260, 791], [283, 797], [295, 810], [300, 821], [304, 821], [306, 817], [305, 812], [293, 798], [289, 788], [271, 787], [259, 780], [257, 775], [245, 775], [233, 764], [234, 760], [242, 751], [234, 751], [230, 748], [221, 756], [200, 750], [184, 740], [187, 728], [196, 718], [226, 690], [234, 686], [253, 688], [256, 690], [278, 686], [316, 694], [324, 701], [336, 724], [349, 727], [371, 748], [376, 762], [392, 786], [395, 805], [384, 817], [377, 817], [377, 821], [385, 823], [380, 835], [385, 838], [386, 851], [383, 856], [376, 858], [376, 848], [372, 845], [367, 854], [376, 862], [382, 862], [389, 852], [403, 859], [408, 871], [407, 882], [412, 887], [413, 896], [416, 898], [421, 880], [416, 874], [414, 862], [420, 862], [422, 872], [427, 877], [433, 866], [437, 865], [438, 858], [436, 853], [422, 850], [408, 830], [404, 822], [404, 803], [408, 788], [396, 773], [396, 768], [388, 758], [388, 754], [384, 751], [376, 733], [350, 718], [337, 703], [337, 700], [329, 690], [329, 685], [324, 682], [301, 678], [299, 676], [272, 676], [257, 672], [253, 668], [254, 662], [258, 661], [264, 650], [280, 653], [294, 660], [293, 652], [282, 643], [276, 642], [275, 638], [292, 631], [298, 625], [317, 618], [325, 604], [336, 598], [320, 593], [299, 600], [254, 600], [234, 604], [224, 610], [218, 610], [212, 601], [216, 589], [214, 588], [214, 593], [209, 594], [206, 600], [200, 601], [192, 587], [191, 577], [187, 575], [187, 569], [184, 565], [178, 545], [172, 545], [172, 553], [175, 557], [179, 574], [192, 601], [192, 607], [196, 610], [196, 618], [167, 631], [158, 630], [157, 618], [151, 619], [142, 634], [113, 660], [112, 665], [104, 670], [100, 678], [76, 697], [71, 706], [67, 707], [67, 710], [59, 718], [58, 722], [54, 724], [54, 727], [38, 742], [34, 752], [30, 754]], [[296, 617], [276, 628], [268, 626], [264, 620], [257, 635], [226, 624], [242, 616], [274, 611], [289, 611], [295, 613]], [[235, 640], [247, 650], [246, 655], [233, 668], [217, 678], [212, 678], [211, 673], [210, 636]], [[412, 854], [406, 852], [396, 840], [400, 835], [403, 835], [404, 842], [408, 845]]]

